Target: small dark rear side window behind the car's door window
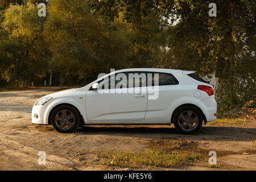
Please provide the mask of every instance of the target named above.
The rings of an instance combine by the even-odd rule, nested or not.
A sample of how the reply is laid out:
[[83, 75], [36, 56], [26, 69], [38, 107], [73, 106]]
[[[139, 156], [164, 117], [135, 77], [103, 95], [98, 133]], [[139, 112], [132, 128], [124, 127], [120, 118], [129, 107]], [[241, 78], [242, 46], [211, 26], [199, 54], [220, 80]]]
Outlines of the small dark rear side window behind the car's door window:
[[[154, 85], [155, 84], [154, 74], [156, 73], [148, 73], [148, 74], [152, 75], [148, 77], [148, 83], [152, 82], [152, 85]], [[158, 73], [158, 74], [159, 74], [159, 86], [179, 84], [179, 81], [177, 81], [177, 79], [171, 74], [168, 74], [168, 73]]]

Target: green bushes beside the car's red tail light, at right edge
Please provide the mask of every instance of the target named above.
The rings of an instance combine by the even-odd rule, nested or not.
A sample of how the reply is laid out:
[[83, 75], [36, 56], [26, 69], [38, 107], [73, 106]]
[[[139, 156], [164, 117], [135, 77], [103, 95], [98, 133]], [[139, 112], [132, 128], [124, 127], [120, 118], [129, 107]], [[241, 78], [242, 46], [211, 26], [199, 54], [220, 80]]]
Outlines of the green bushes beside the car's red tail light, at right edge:
[[247, 101], [253, 101], [255, 107], [256, 98], [256, 59], [252, 52], [239, 55], [236, 64], [231, 68], [232, 76], [220, 78], [216, 89], [218, 109], [220, 113], [241, 108]]

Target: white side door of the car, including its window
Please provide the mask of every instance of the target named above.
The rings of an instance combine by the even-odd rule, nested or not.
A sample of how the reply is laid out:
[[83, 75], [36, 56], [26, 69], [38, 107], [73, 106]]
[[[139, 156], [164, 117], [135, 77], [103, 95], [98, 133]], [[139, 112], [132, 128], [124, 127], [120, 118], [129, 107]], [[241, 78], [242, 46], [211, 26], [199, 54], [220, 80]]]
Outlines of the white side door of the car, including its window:
[[[100, 82], [98, 90], [90, 89], [86, 94], [86, 115], [91, 123], [129, 123], [142, 121], [147, 109], [146, 76], [129, 84], [129, 75], [142, 73], [115, 73]], [[126, 84], [120, 86], [121, 76], [126, 76]], [[134, 80], [134, 79], [133, 79]], [[114, 86], [113, 86], [114, 85]], [[144, 91], [142, 91], [144, 90]]]

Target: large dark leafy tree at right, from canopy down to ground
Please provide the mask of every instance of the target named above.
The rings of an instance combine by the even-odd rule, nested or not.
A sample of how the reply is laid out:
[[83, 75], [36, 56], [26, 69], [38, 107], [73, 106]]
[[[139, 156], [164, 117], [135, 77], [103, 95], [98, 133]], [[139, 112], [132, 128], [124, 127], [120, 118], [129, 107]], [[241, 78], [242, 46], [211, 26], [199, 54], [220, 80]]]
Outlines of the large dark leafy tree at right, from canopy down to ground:
[[254, 1], [216, 4], [217, 17], [209, 17], [205, 1], [176, 1], [168, 11], [179, 23], [170, 28], [167, 61], [201, 75], [215, 73], [216, 98], [224, 111], [255, 100], [256, 6]]

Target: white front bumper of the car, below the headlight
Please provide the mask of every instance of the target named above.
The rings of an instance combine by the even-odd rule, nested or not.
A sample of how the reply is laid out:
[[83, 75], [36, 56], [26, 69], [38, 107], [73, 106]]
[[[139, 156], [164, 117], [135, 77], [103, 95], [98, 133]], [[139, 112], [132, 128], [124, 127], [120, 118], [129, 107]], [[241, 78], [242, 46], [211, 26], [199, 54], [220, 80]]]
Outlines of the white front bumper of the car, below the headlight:
[[34, 105], [32, 108], [32, 123], [39, 125], [48, 125], [45, 115], [46, 107], [43, 105]]

